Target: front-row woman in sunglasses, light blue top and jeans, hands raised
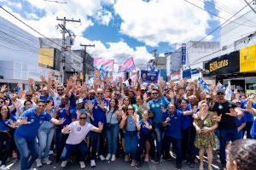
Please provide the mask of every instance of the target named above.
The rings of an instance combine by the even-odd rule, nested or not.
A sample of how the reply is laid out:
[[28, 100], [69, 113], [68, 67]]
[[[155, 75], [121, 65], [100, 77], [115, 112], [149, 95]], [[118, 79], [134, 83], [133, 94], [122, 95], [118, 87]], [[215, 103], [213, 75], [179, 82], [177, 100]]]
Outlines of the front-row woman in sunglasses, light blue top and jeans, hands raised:
[[126, 112], [123, 111], [119, 127], [125, 131], [125, 161], [129, 161], [131, 158], [131, 166], [135, 166], [138, 143], [137, 131], [140, 130], [140, 125], [139, 117], [134, 114], [132, 105], [128, 105]]

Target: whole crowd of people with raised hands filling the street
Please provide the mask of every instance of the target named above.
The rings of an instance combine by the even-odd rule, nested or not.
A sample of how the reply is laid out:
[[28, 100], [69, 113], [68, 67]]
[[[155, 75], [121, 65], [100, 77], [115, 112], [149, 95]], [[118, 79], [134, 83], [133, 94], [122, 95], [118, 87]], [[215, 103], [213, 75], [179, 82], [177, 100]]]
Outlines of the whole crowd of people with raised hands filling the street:
[[[15, 93], [9, 93], [6, 85], [1, 87], [2, 170], [7, 169], [9, 156], [17, 156], [21, 170], [34, 162], [37, 167], [51, 164], [50, 150], [61, 167], [77, 153], [81, 168], [85, 160], [96, 167], [97, 157], [115, 161], [124, 154], [124, 160], [137, 169], [148, 161], [159, 164], [174, 157], [177, 169], [186, 161], [191, 168], [199, 162], [202, 170], [206, 150], [207, 169], [211, 170], [214, 149], [223, 169], [254, 168], [255, 153], [245, 154], [255, 149], [254, 94], [246, 97], [235, 90], [227, 100], [223, 88], [211, 85], [204, 90], [196, 80], [185, 79], [169, 84], [162, 79], [157, 84], [138, 80], [127, 85], [122, 77], [117, 82], [106, 78], [89, 87], [77, 75], [63, 86], [50, 73], [47, 79], [40, 78], [40, 88], [32, 78], [27, 91], [21, 83]], [[228, 153], [227, 163], [225, 150], [230, 143], [235, 149]], [[235, 144], [244, 144], [246, 149]], [[243, 153], [244, 159], [236, 153]]]

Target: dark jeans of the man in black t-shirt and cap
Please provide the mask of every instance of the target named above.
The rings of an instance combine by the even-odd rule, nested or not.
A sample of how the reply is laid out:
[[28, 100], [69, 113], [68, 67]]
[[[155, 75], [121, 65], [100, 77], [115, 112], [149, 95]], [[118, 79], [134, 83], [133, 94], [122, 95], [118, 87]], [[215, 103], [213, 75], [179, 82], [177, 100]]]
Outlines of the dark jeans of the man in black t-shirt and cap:
[[222, 165], [226, 164], [226, 143], [228, 140], [231, 140], [232, 142], [236, 139], [239, 139], [237, 128], [234, 129], [219, 129], [219, 159], [222, 163]]

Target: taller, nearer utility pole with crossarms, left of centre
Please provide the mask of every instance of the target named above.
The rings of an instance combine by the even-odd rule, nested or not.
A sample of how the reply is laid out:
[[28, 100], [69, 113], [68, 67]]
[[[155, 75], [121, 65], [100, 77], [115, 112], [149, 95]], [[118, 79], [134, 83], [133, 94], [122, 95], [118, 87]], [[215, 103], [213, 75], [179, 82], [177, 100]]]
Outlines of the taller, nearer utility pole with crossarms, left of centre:
[[65, 72], [65, 52], [67, 51], [67, 42], [66, 42], [66, 33], [70, 35], [66, 28], [66, 22], [81, 22], [81, 20], [67, 20], [66, 17], [63, 19], [57, 18], [56, 20], [61, 20], [63, 25], [59, 25], [61, 27], [62, 33], [62, 48], [61, 48], [61, 66], [60, 66], [60, 73], [61, 73], [61, 83], [64, 84], [64, 72]]

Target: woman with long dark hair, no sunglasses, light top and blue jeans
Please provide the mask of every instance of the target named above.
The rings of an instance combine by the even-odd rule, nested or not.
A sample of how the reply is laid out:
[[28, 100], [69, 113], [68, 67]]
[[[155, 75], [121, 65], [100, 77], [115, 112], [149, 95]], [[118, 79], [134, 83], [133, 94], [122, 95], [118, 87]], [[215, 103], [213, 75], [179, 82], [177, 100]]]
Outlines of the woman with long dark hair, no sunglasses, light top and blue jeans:
[[110, 99], [107, 111], [107, 139], [108, 139], [108, 161], [115, 161], [119, 138], [119, 101]]

